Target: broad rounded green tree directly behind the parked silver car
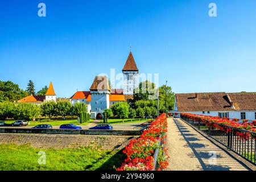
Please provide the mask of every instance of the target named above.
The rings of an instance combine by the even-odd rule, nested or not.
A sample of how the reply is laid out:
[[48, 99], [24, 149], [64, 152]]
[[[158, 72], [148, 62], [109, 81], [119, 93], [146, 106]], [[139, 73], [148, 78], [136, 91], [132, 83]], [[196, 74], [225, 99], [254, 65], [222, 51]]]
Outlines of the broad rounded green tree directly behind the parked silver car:
[[34, 104], [20, 103], [15, 106], [14, 119], [31, 121], [40, 115], [40, 107]]

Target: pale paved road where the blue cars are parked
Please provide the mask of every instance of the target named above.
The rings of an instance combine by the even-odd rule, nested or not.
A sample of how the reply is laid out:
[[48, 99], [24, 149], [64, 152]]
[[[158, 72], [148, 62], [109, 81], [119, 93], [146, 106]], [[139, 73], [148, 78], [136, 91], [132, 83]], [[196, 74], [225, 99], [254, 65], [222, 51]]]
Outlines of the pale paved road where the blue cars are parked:
[[[137, 123], [119, 123], [119, 124], [111, 124], [113, 126], [114, 130], [134, 130], [134, 127], [141, 125], [144, 122], [137, 122]], [[31, 123], [30, 123], [31, 124]], [[43, 124], [43, 123], [42, 123]], [[83, 130], [88, 130], [89, 127], [93, 127], [100, 124], [100, 121], [93, 121], [90, 122], [88, 125], [77, 125], [77, 126], [81, 126]], [[25, 128], [25, 129], [30, 129], [31, 127], [33, 127], [34, 125], [30, 125], [30, 126], [1, 126], [0, 128]], [[59, 129], [60, 126], [52, 126], [53, 129]]]

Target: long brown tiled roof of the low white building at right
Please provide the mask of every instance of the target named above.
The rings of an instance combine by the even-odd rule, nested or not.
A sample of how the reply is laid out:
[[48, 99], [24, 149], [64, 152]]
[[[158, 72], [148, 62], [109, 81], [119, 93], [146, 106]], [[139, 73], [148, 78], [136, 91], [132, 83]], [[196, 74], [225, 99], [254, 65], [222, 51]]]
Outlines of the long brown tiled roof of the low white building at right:
[[[178, 93], [178, 111], [256, 110], [256, 93]], [[232, 107], [233, 106], [233, 107]]]

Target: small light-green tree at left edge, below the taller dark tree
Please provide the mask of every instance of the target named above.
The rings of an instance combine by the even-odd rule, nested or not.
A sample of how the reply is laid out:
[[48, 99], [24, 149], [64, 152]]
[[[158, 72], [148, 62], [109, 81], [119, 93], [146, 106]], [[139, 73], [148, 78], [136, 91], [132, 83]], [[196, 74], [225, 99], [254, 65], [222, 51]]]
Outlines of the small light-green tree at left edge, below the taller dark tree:
[[8, 118], [13, 118], [15, 105], [10, 101], [0, 102], [0, 120], [5, 120]]

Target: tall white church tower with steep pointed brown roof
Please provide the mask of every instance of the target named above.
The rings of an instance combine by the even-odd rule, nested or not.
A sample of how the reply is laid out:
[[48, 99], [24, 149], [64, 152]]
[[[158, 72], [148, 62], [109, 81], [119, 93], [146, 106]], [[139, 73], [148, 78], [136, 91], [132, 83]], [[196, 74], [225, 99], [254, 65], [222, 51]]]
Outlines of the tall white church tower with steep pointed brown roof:
[[133, 53], [129, 53], [125, 66], [122, 69], [123, 72], [123, 94], [133, 94], [133, 90], [138, 84], [139, 70], [134, 61]]

